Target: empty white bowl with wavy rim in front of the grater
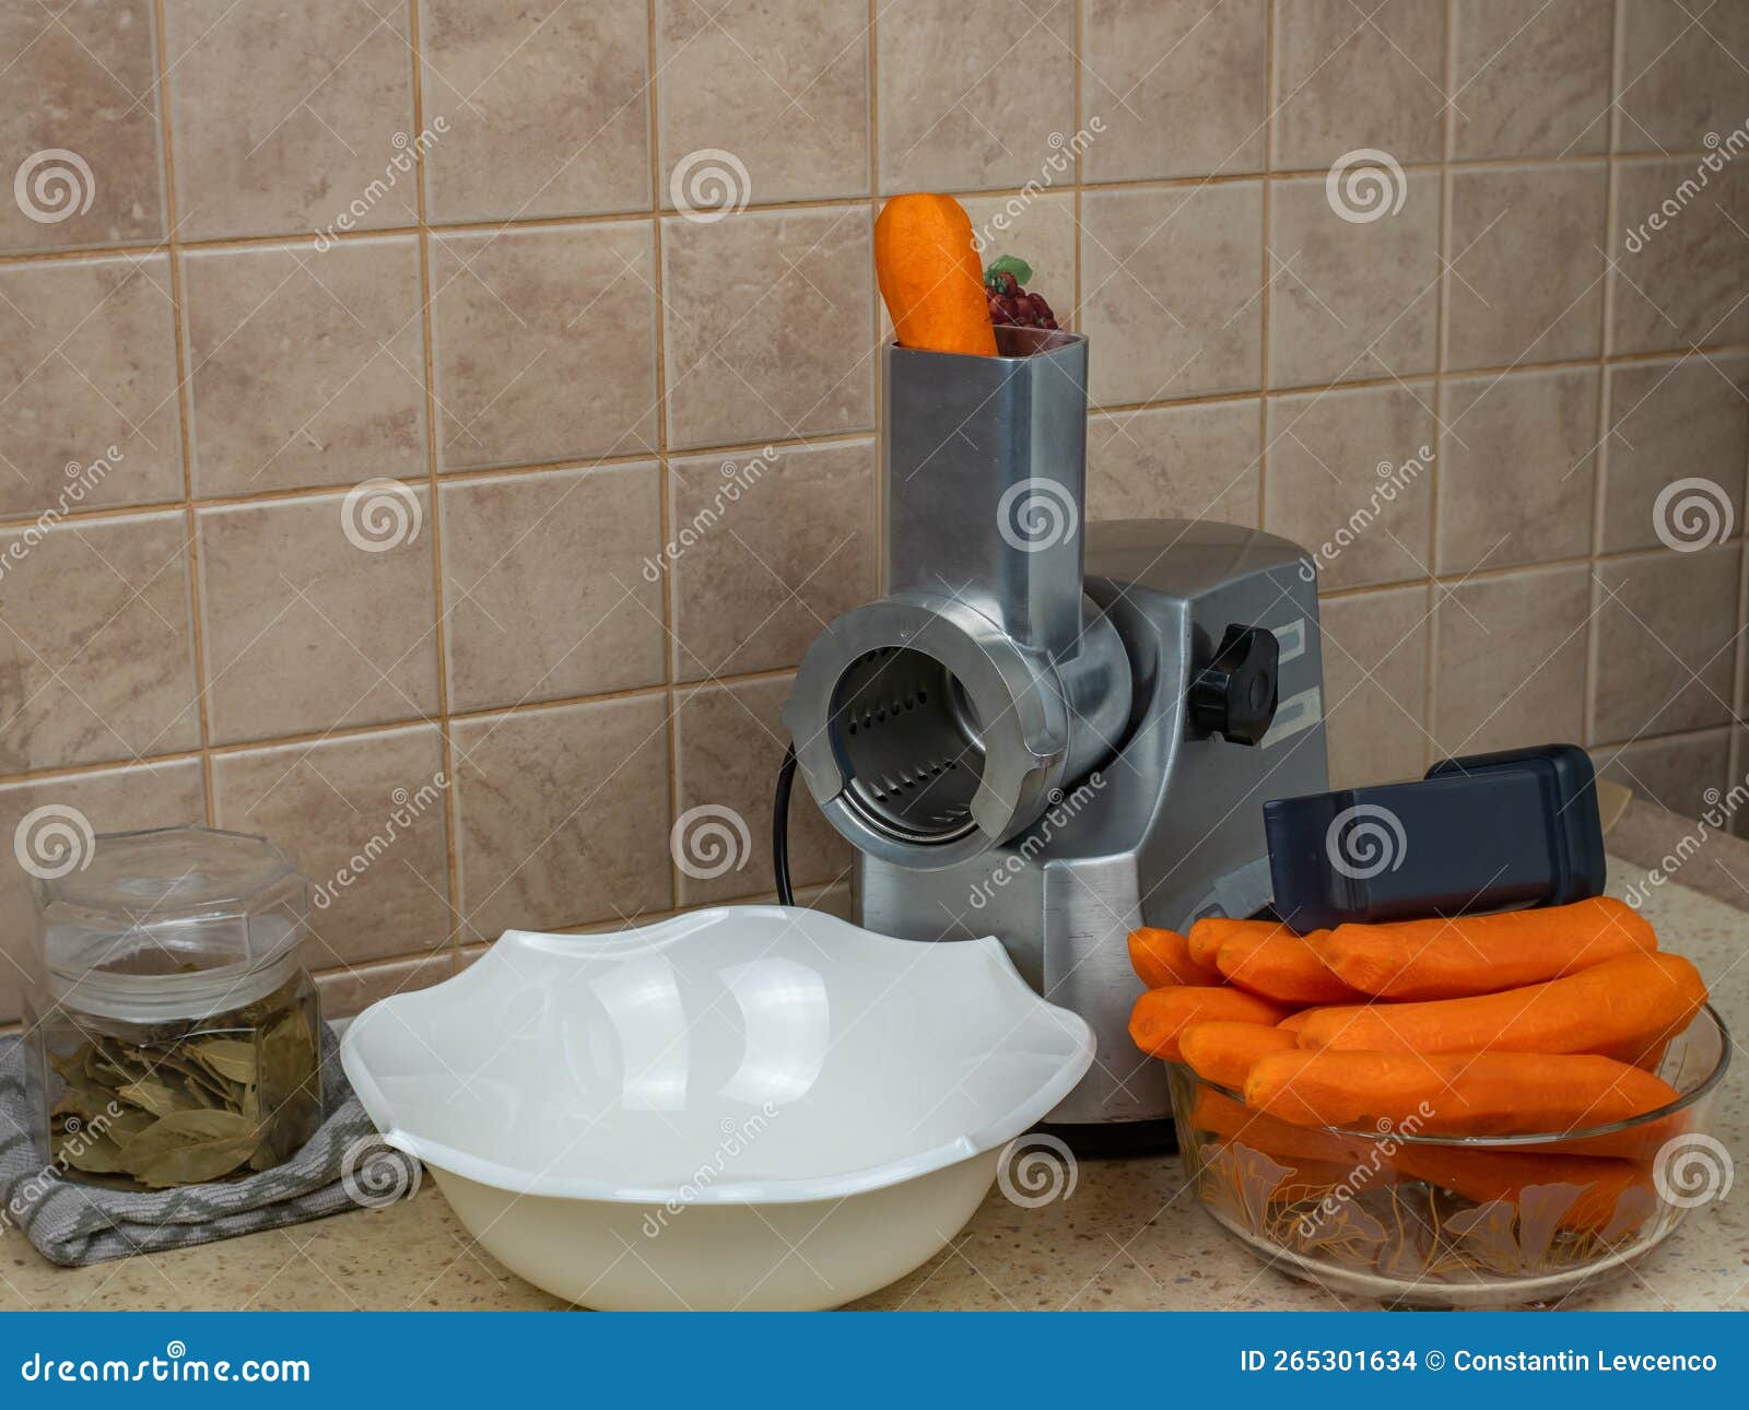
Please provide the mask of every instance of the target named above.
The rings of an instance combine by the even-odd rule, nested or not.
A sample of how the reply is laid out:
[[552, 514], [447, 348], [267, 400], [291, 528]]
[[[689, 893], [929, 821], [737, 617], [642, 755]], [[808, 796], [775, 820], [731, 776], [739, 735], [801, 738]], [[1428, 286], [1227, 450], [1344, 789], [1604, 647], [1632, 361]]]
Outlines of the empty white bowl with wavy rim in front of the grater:
[[731, 906], [507, 931], [341, 1043], [512, 1272], [603, 1309], [838, 1307], [927, 1261], [1093, 1060], [995, 939]]

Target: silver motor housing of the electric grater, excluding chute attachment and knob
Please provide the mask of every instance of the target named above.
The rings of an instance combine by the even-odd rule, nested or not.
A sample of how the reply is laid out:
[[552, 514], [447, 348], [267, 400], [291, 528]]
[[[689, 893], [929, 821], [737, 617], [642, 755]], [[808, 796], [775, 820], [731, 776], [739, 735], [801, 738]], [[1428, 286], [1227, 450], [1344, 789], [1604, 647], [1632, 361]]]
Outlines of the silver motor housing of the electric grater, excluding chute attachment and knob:
[[[1118, 752], [1021, 834], [948, 868], [862, 852], [861, 924], [906, 939], [993, 934], [1098, 1044], [1053, 1125], [1170, 1116], [1165, 1064], [1130, 1041], [1137, 925], [1184, 931], [1203, 915], [1270, 904], [1263, 805], [1326, 787], [1317, 593], [1291, 542], [1233, 525], [1132, 520], [1088, 530], [1088, 597], [1118, 628], [1135, 708]], [[1233, 623], [1280, 644], [1279, 705], [1256, 745], [1196, 726], [1188, 691]]]

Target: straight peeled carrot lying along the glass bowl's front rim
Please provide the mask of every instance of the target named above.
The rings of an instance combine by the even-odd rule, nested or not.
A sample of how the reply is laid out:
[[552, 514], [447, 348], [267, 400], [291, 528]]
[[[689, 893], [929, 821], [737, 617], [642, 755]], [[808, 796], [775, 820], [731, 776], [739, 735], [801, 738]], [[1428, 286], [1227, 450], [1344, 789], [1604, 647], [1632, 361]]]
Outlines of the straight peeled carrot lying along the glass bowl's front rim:
[[1259, 1057], [1245, 1106], [1296, 1125], [1410, 1135], [1539, 1135], [1625, 1121], [1677, 1099], [1667, 1081], [1593, 1053], [1376, 1053]]

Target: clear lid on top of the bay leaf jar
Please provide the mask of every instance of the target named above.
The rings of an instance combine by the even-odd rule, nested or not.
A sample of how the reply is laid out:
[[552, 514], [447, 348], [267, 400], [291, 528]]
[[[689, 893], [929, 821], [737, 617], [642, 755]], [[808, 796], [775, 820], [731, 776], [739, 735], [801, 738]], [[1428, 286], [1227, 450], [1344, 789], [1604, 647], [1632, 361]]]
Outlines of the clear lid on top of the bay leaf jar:
[[107, 833], [37, 887], [51, 999], [154, 1022], [241, 1008], [296, 959], [308, 882], [271, 841], [217, 827]]

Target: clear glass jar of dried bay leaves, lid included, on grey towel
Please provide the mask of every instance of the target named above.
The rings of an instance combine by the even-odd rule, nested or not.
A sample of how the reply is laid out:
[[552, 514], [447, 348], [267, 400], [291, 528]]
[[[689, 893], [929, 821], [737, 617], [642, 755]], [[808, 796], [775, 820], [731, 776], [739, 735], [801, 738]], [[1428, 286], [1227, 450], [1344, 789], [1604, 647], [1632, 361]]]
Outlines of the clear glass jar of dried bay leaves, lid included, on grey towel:
[[310, 882], [247, 833], [98, 836], [37, 882], [24, 1016], [38, 1137], [70, 1179], [269, 1170], [322, 1123]]

